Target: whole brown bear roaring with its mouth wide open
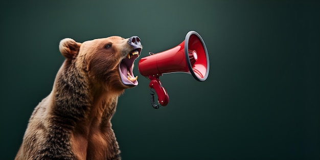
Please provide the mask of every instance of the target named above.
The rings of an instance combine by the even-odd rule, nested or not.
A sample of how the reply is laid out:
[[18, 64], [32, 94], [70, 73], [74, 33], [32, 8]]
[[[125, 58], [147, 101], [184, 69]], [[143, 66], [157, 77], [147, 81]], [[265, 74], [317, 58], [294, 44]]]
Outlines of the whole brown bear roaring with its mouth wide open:
[[138, 36], [62, 39], [65, 60], [32, 112], [15, 160], [121, 159], [110, 120], [118, 97], [138, 85], [132, 70], [141, 50]]

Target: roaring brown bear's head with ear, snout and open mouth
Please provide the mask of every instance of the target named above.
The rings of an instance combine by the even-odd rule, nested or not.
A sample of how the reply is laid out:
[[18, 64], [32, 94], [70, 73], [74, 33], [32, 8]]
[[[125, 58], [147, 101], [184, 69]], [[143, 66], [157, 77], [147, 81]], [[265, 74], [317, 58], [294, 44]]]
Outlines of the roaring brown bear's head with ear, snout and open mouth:
[[71, 38], [60, 41], [59, 50], [65, 65], [71, 65], [89, 80], [91, 85], [112, 90], [124, 90], [138, 85], [133, 75], [133, 62], [139, 57], [142, 45], [138, 36], [111, 36], [76, 42]]

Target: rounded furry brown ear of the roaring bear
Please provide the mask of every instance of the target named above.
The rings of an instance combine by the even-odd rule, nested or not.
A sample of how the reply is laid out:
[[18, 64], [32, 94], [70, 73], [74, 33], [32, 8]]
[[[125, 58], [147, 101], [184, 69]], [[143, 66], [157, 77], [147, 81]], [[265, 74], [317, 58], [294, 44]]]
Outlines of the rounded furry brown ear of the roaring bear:
[[64, 38], [60, 41], [59, 50], [61, 54], [67, 59], [77, 57], [81, 43], [76, 42], [71, 38]]

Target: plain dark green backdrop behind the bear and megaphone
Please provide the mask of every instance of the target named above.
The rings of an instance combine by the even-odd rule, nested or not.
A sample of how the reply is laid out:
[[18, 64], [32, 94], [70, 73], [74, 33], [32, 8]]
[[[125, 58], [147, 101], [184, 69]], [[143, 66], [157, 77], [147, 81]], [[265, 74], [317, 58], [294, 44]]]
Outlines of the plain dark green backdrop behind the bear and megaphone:
[[61, 39], [138, 35], [144, 57], [190, 30], [208, 48], [207, 81], [162, 76], [170, 103], [156, 110], [135, 67], [112, 119], [123, 159], [320, 158], [319, 1], [1, 1], [0, 13], [0, 159], [51, 92]]

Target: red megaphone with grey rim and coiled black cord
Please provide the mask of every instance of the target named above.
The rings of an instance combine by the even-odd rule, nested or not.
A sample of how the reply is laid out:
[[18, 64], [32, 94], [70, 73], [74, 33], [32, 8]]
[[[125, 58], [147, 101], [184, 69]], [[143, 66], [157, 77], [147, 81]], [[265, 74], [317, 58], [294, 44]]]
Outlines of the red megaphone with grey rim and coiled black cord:
[[[149, 53], [149, 56], [141, 58], [138, 64], [140, 74], [150, 79], [149, 87], [155, 90], [158, 103], [162, 106], [169, 103], [169, 95], [159, 80], [160, 76], [181, 72], [191, 74], [202, 82], [208, 78], [209, 68], [207, 48], [195, 31], [188, 32], [185, 40], [176, 47], [156, 54]], [[157, 109], [159, 105], [154, 103], [154, 92], [151, 92], [151, 104]]]

